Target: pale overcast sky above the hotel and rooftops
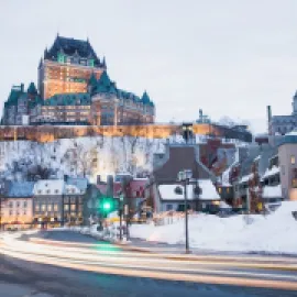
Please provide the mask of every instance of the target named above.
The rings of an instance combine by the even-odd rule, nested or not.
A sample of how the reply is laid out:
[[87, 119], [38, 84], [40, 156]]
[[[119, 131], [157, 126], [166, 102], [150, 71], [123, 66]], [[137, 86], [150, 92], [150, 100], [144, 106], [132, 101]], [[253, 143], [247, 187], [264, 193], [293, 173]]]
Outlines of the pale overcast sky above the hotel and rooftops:
[[297, 89], [296, 0], [0, 0], [0, 103], [37, 82], [57, 32], [89, 41], [117, 85], [147, 90], [156, 121], [195, 120], [201, 108], [266, 131], [292, 113]]

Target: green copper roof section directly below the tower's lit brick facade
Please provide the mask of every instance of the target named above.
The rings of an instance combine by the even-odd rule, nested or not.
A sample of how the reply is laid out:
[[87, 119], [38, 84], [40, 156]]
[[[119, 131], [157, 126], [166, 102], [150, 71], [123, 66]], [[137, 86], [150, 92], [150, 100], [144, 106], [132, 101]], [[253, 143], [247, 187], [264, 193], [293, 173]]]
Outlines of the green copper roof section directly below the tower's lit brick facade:
[[89, 106], [90, 103], [90, 95], [87, 92], [59, 94], [44, 101], [44, 106]]

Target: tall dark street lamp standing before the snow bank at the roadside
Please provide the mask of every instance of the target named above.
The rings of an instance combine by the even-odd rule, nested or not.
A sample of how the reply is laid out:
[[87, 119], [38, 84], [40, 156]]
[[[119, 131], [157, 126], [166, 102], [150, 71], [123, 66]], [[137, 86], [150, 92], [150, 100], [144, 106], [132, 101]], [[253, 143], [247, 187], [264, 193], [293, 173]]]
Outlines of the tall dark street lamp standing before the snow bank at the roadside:
[[[184, 185], [184, 207], [185, 207], [185, 229], [186, 229], [186, 254], [189, 251], [189, 230], [188, 230], [188, 193], [187, 186], [189, 185], [190, 178], [193, 176], [191, 170], [183, 170], [178, 173], [177, 179]], [[182, 189], [176, 188], [177, 194], [182, 194]]]

